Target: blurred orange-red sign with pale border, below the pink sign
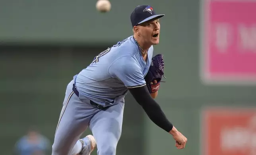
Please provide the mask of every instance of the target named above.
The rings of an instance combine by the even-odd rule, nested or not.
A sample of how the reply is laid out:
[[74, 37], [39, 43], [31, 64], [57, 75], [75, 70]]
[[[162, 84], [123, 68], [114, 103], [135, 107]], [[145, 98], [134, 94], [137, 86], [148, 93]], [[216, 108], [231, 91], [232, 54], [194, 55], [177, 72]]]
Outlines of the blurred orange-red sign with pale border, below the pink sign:
[[256, 155], [256, 109], [209, 109], [202, 120], [201, 155]]

